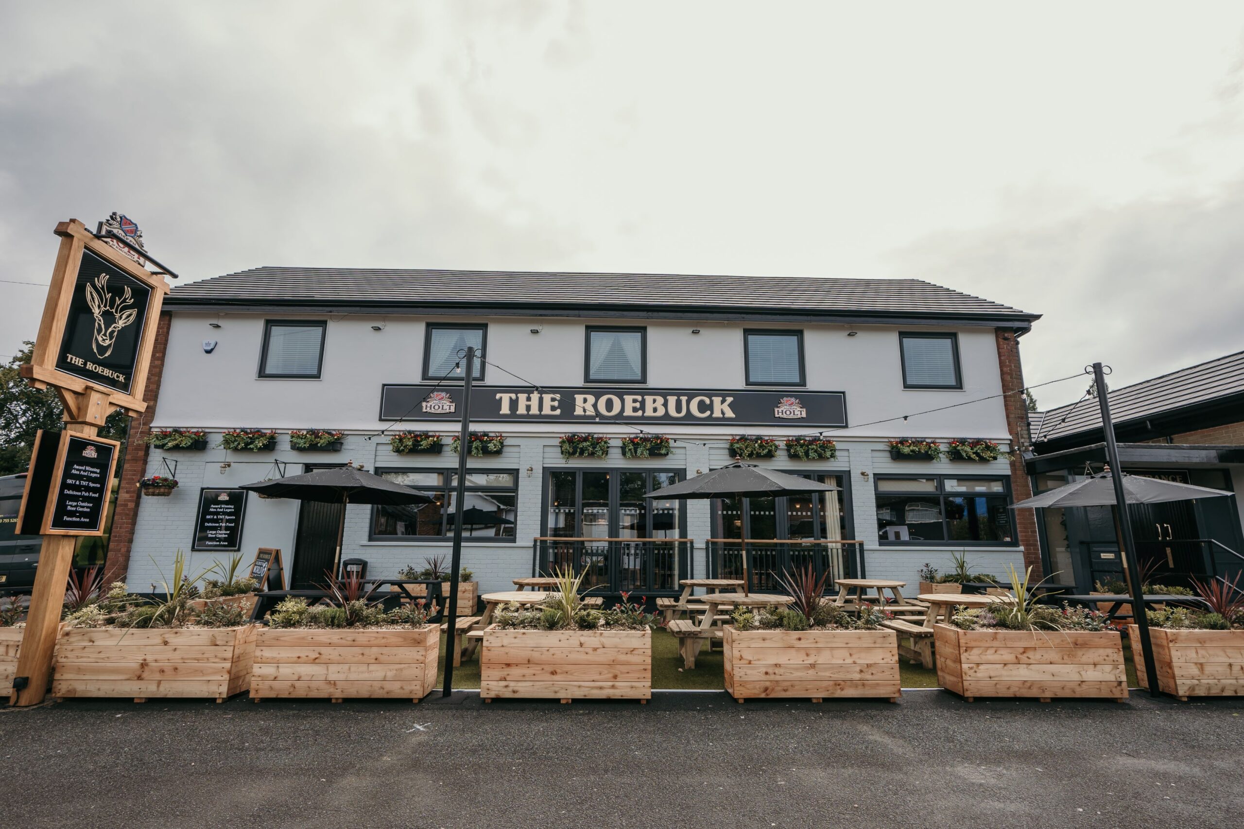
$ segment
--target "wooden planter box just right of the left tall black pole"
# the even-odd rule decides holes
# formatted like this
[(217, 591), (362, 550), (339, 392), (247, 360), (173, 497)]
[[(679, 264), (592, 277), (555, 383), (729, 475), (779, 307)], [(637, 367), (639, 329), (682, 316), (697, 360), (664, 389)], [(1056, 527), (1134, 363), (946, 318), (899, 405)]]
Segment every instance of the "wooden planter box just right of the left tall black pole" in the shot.
[(479, 696), (539, 700), (652, 698), (651, 630), (484, 631)]

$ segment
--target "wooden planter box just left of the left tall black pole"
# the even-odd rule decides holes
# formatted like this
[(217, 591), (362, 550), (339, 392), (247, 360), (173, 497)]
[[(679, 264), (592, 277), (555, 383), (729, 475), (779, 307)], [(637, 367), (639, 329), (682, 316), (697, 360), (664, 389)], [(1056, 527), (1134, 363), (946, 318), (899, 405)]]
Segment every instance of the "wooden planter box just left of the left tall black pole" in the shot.
[(250, 698), (413, 700), (437, 685), (440, 629), (261, 627)]

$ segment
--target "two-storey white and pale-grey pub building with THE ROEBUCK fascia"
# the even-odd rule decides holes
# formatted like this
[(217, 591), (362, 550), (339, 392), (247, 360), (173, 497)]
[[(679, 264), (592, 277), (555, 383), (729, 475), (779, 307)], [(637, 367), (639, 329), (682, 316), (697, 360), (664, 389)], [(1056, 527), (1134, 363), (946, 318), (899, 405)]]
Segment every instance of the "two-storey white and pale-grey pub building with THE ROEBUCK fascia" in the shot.
[[(1035, 520), (1009, 509), (1030, 494), (1018, 454), (931, 461), (889, 446), (1026, 446), (1016, 340), (1036, 319), (919, 280), (259, 268), (179, 285), (158, 322), (154, 405), (129, 436), (108, 575), (143, 590), (179, 549), (198, 573), (275, 548), (287, 586), (313, 586), (332, 569), (341, 509), (342, 559), (379, 578), (448, 560), (460, 515), (463, 566), (485, 592), (572, 563), (605, 595), (677, 595), (679, 579), (728, 575), (740, 539), (755, 541), (756, 589), (804, 561), (899, 579), (913, 595), (922, 565), (948, 569), (962, 551), (993, 574), (1040, 566)], [(459, 510), (452, 442), (466, 346), (484, 355), (470, 428), (491, 438), (469, 457)], [(943, 411), (916, 415), (928, 410)], [(174, 428), (205, 431), (207, 448), (146, 443)], [(223, 448), (238, 429), (275, 443)], [(291, 448), (300, 429), (341, 432), (340, 451)], [(401, 453), (389, 443), (401, 432), (443, 441)], [(607, 452), (564, 457), (571, 433), (607, 438)], [(832, 457), (790, 454), (796, 436), (832, 439)], [(623, 448), (657, 437), (668, 452)], [(776, 442), (753, 463), (841, 489), (643, 498), (730, 463), (738, 437)], [(435, 503), (300, 504), (238, 489), (347, 462)], [(139, 477), (170, 468), (172, 495), (139, 497)]]

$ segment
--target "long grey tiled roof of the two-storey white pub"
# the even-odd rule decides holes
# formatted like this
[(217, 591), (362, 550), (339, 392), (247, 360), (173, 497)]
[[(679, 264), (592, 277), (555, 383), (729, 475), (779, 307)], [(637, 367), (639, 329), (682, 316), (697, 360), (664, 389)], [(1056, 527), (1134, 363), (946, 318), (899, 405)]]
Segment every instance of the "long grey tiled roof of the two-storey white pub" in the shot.
[(255, 268), (178, 285), (165, 304), (611, 309), (769, 314), (979, 317), (1029, 325), (1040, 317), (918, 279), (816, 279), (481, 270)]

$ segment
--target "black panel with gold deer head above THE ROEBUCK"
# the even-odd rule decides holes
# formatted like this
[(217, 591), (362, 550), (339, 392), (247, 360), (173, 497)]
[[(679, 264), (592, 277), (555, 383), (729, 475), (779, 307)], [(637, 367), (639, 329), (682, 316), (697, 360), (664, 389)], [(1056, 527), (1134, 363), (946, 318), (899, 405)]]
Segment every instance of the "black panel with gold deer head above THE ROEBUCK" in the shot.
[(128, 395), (152, 294), (142, 281), (83, 250), (56, 370)]

